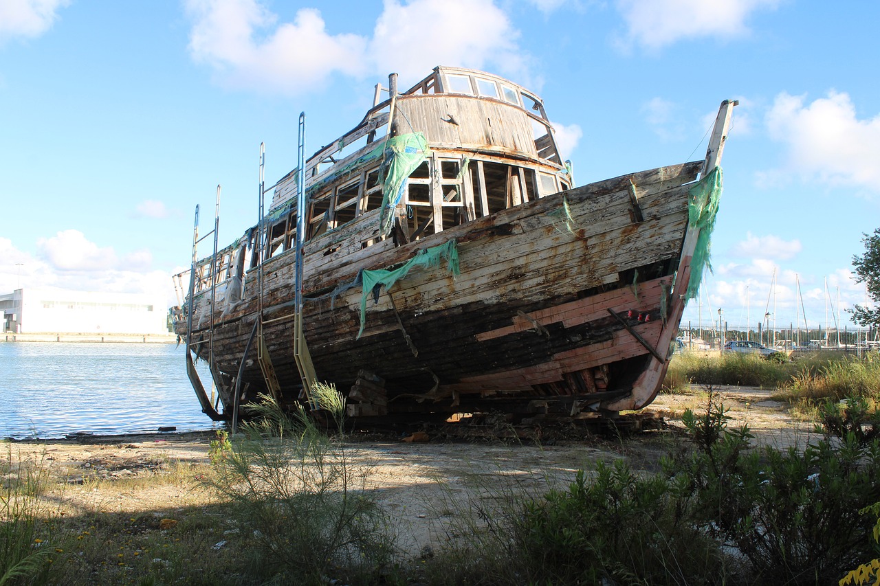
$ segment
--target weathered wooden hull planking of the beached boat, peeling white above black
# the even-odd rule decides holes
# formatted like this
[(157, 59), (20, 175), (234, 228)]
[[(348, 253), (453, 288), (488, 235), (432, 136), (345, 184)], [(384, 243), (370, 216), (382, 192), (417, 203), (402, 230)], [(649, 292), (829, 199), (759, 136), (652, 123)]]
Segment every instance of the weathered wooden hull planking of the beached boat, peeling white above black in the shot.
[[(648, 355), (607, 308), (633, 310), (627, 324), (656, 343), (663, 327), (660, 298), (671, 275), (642, 275), (633, 288), (621, 274), (662, 260), (677, 262), (687, 223), (686, 184), (699, 167), (676, 165), (608, 179), (399, 247), (390, 239), (363, 247), (375, 237), (364, 227), (376, 223), (375, 212), (312, 240), (305, 251), (305, 292), (317, 298), (306, 301), (304, 323), (319, 377), (347, 390), (357, 371), (366, 369), (387, 379), (392, 394), (531, 392), (533, 385), (553, 384), (567, 373)], [(634, 222), (630, 181), (642, 222)], [(363, 268), (390, 267), (447, 238), (458, 241), (461, 275), (444, 268), (414, 270), (391, 291), (396, 312), (387, 292), (378, 304), (370, 299), (366, 328), (356, 340), (360, 289), (334, 299), (327, 293)], [(283, 318), (292, 311), (292, 252), (269, 260), (263, 270), (265, 319)], [(254, 274), (247, 276), (245, 301), (216, 321), (214, 352), (228, 373), (238, 370), (253, 327)], [(201, 297), (195, 317), (206, 311), (209, 299)], [(649, 315), (649, 321), (636, 314)], [(195, 333), (196, 340), (206, 328)], [(297, 384), (290, 321), (270, 321), (265, 331), (282, 386)], [(255, 361), (246, 380), (261, 384)], [(405, 402), (392, 399), (389, 408), (404, 408)]]

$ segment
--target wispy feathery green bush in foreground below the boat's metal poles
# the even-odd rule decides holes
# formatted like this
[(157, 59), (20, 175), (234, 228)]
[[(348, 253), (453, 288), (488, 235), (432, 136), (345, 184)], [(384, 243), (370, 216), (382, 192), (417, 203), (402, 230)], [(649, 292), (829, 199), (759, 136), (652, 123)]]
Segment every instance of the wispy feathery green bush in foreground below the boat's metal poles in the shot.
[[(287, 414), (261, 399), (212, 480), (233, 503), (250, 573), (279, 583), (374, 583), (393, 541), (344, 436), (328, 436), (303, 407)], [(335, 388), (315, 385), (312, 399), (341, 429), (345, 403)]]

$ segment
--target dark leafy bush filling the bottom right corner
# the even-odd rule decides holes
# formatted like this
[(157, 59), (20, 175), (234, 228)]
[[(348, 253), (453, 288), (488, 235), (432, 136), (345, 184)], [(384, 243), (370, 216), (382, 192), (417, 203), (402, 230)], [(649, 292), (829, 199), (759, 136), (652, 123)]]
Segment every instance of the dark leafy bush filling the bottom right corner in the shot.
[(831, 583), (865, 559), (871, 524), (859, 510), (880, 497), (880, 443), (854, 433), (795, 447), (749, 446), (747, 427), (728, 429), (709, 393), (705, 414), (683, 418), (698, 450), (667, 459), (700, 526), (751, 562), (761, 583)]

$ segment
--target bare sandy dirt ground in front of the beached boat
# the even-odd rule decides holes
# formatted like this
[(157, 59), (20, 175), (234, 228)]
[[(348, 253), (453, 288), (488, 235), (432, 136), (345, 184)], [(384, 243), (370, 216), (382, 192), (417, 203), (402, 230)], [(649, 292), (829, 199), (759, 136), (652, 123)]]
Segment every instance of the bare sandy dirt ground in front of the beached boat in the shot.
[[(774, 447), (816, 439), (813, 424), (791, 416), (788, 404), (770, 392), (721, 387), (731, 426), (747, 423), (756, 443)], [(538, 444), (480, 441), (405, 443), (395, 438), (349, 443), (349, 455), (369, 473), (378, 501), (399, 521), (400, 544), (411, 553), (436, 545), (455, 532), (473, 508), (490, 508), (509, 487), (546, 491), (564, 486), (577, 470), (605, 459), (626, 458), (636, 469), (656, 470), (657, 461), (678, 441), (680, 414), (705, 408), (705, 394), (660, 395), (648, 407), (668, 428), (617, 438), (584, 434)], [(69, 514), (89, 511), (167, 514), (214, 497), (198, 481), (209, 473), (207, 433), (114, 436), (9, 443), (0, 458), (42, 460), (58, 479), (50, 497)], [(177, 474), (190, 468), (195, 474)], [(180, 481), (167, 481), (167, 478)], [(165, 477), (165, 480), (160, 480)], [(184, 480), (185, 479), (185, 480)]]

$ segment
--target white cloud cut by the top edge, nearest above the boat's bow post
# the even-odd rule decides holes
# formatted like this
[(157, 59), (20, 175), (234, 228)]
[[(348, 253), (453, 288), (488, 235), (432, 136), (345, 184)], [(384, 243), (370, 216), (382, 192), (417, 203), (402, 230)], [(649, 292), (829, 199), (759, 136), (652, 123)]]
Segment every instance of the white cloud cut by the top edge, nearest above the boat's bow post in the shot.
[(617, 0), (627, 24), (626, 40), (661, 48), (697, 37), (733, 38), (749, 32), (752, 12), (774, 8), (780, 0)]

